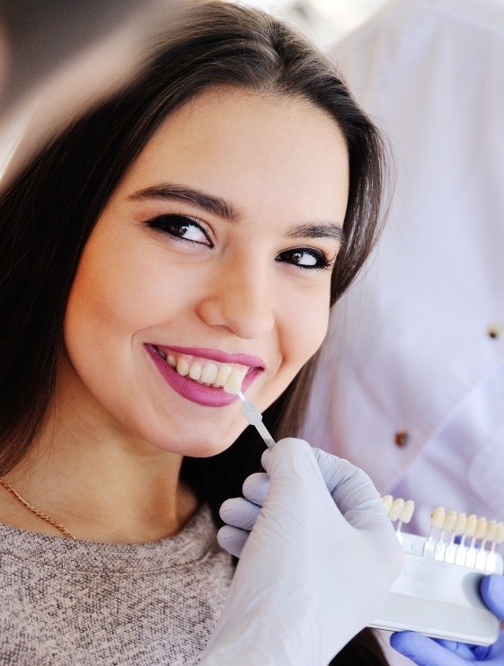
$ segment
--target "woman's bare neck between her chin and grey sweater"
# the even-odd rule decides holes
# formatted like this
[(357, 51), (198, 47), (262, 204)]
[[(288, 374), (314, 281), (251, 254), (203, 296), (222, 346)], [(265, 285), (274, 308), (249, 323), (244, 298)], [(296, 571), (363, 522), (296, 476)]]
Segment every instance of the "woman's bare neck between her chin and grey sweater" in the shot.
[[(31, 451), (5, 480), (78, 539), (143, 543), (176, 534), (198, 506), (179, 478), (182, 457), (128, 437), (72, 397), (58, 395)], [(1, 487), (0, 522), (61, 536)]]

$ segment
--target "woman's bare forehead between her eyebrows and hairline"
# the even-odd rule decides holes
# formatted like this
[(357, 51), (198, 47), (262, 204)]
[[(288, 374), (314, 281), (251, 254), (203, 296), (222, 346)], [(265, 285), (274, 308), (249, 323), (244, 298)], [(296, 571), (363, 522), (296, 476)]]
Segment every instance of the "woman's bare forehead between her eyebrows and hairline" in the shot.
[[(174, 111), (122, 183), (128, 192), (171, 182), (241, 209), (306, 206), (336, 215), (348, 195), (348, 155), (335, 120), (287, 96), (227, 88), (203, 93)], [(273, 198), (273, 199), (272, 199)], [(259, 212), (259, 211), (258, 211)]]

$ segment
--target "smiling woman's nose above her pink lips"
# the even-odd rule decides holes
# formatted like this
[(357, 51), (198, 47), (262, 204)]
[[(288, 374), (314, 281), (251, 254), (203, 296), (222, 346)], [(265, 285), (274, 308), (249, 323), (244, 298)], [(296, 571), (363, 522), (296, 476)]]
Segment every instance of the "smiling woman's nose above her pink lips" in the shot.
[(267, 271), (227, 263), (206, 285), (199, 316), (211, 326), (224, 326), (246, 340), (270, 333), (275, 325)]

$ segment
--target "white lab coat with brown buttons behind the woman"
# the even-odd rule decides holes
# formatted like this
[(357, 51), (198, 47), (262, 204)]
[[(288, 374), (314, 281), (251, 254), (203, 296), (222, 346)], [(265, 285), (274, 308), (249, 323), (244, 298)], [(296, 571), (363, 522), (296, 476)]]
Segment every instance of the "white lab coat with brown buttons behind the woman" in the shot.
[(397, 185), (302, 435), (415, 500), (419, 534), (438, 504), (504, 519), (504, 3), (397, 0), (333, 55)]

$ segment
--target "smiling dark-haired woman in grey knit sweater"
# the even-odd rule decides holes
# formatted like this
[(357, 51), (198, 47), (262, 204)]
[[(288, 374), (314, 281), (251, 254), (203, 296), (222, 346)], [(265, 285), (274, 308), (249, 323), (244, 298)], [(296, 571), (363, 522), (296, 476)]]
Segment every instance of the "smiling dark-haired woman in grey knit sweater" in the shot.
[(376, 237), (381, 141), (315, 49), (233, 4), (171, 34), (4, 192), (4, 662), (198, 661), (208, 511), (261, 456), (222, 386), (295, 432)]

